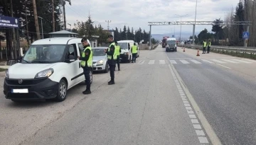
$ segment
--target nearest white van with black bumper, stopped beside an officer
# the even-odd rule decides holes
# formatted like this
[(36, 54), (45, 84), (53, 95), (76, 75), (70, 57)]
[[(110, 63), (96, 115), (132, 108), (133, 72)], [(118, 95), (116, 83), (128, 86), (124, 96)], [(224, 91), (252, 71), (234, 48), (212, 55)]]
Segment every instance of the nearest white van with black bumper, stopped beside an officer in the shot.
[[(84, 49), (81, 39), (54, 37), (33, 42), (18, 63), (6, 71), (6, 98), (14, 102), (51, 98), (65, 100), (68, 89), (85, 81), (78, 60)], [(90, 82), (92, 83), (92, 70)]]

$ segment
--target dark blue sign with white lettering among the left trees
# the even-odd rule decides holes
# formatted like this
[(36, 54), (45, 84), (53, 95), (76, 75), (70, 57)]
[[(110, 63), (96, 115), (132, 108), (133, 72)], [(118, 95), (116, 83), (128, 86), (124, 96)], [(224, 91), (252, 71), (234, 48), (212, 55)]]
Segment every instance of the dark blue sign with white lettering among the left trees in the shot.
[(18, 28), (18, 18), (0, 16), (0, 28)]

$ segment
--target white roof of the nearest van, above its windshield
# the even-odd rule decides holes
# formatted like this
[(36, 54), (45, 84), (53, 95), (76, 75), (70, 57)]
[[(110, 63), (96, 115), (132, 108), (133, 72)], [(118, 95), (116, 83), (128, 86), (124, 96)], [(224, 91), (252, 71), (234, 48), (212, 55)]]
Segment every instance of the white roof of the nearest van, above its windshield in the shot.
[(79, 40), (81, 42), (82, 38), (78, 37), (51, 37), (41, 40), (36, 40), (32, 43), (32, 45), (66, 45), (68, 40)]

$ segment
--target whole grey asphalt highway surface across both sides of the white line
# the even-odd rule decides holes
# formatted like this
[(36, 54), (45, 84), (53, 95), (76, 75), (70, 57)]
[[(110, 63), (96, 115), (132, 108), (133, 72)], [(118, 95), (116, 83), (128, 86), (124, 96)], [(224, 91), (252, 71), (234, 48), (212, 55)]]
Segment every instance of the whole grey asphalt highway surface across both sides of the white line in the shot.
[(94, 74), (92, 94), (80, 84), (61, 103), (2, 93), (1, 144), (256, 144), (256, 61), (164, 50), (121, 64), (114, 86)]

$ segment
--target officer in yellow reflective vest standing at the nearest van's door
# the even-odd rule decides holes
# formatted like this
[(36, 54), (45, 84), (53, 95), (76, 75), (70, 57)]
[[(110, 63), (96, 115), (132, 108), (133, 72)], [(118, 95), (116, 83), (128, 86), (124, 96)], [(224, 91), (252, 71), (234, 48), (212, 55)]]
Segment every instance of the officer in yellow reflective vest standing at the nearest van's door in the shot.
[(82, 45), (84, 50), (82, 50), (81, 57), (78, 57), (81, 60), (81, 66), (83, 69), (83, 73), (85, 74), (85, 83), (86, 83), (86, 90), (83, 91), (83, 94), (90, 94), (90, 74), (92, 74), (92, 47), (90, 47), (89, 42), (86, 37), (83, 37)]

